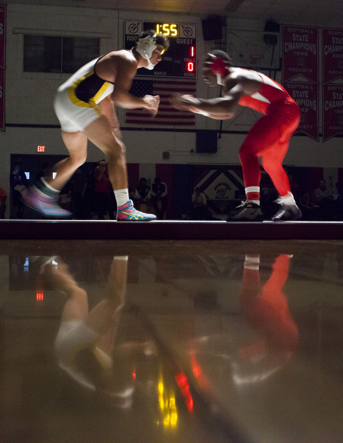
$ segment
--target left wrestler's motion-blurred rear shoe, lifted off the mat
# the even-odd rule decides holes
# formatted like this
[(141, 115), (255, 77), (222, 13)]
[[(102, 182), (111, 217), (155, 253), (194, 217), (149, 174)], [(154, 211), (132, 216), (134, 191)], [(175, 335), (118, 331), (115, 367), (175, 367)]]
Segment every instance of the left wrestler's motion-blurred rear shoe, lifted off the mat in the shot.
[(66, 218), (72, 215), (71, 212), (58, 205), (58, 192), (50, 190), (41, 180), (23, 190), (21, 196), (26, 206), (46, 217)]

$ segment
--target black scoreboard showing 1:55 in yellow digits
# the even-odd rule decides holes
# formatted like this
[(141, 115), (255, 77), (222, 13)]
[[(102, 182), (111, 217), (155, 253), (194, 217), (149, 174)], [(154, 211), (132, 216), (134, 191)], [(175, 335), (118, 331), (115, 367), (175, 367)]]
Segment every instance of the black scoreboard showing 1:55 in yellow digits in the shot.
[(197, 78), (196, 38), (197, 27), (187, 23), (161, 23), (125, 21), (125, 49), (131, 49), (143, 31), (154, 29), (156, 34), (166, 35), (170, 47), (162, 54), (162, 60), (154, 70), (140, 68), (137, 76)]

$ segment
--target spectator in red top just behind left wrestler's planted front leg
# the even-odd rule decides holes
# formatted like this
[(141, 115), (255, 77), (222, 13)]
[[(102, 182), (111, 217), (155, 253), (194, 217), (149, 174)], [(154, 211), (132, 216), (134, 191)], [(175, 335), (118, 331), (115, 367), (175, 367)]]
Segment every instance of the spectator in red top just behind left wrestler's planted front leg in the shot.
[(94, 169), (94, 183), (94, 209), (98, 219), (104, 220), (108, 214), (109, 218), (113, 220), (114, 214), (110, 205), (110, 195), (113, 193), (113, 189), (105, 160), (100, 160)]

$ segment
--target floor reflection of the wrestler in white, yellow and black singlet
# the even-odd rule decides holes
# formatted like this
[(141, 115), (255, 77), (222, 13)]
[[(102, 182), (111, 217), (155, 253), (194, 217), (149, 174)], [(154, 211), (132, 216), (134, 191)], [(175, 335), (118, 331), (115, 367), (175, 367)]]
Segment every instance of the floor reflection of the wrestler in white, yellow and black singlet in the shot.
[(80, 385), (113, 400), (128, 400), (133, 388), (126, 381), (126, 389), (118, 389), (118, 383), (122, 382), (118, 380), (119, 374), (114, 370), (116, 362), (112, 359), (126, 294), (127, 257), (113, 258), (105, 290), (107, 298), (91, 311), (86, 291), (78, 286), (61, 258), (55, 260), (58, 265), (46, 265), (43, 278), (69, 297), (54, 346), (58, 365)]

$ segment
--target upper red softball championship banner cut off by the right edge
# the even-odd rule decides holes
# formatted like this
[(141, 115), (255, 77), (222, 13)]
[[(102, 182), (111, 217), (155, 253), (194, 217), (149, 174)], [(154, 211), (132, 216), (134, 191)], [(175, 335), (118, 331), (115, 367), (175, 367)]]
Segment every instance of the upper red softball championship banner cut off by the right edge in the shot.
[(322, 29), (323, 85), (343, 80), (343, 29)]

